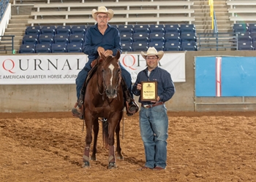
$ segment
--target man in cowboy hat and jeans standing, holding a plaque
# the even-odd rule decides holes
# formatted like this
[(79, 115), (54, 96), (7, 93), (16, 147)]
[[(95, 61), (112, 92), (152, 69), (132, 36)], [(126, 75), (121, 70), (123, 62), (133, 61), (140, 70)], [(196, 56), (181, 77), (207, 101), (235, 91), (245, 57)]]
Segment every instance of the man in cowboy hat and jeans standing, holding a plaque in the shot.
[(165, 170), (168, 137), (165, 102), (173, 97), (175, 87), (170, 74), (158, 66), (163, 51), (149, 47), (141, 55), (147, 67), (140, 71), (132, 87), (132, 92), (140, 96), (140, 135), (146, 155), (146, 164), (138, 170)]

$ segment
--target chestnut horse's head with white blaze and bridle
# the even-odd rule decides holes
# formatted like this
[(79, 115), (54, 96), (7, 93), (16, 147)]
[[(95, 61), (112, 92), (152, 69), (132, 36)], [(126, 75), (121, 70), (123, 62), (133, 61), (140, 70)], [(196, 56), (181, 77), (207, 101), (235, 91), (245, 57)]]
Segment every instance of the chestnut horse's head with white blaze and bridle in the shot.
[(121, 68), (118, 64), (119, 58), (120, 52), (118, 51), (115, 57), (109, 55), (102, 63), (103, 85), (108, 98), (116, 98), (118, 93), (118, 86), (121, 82)]

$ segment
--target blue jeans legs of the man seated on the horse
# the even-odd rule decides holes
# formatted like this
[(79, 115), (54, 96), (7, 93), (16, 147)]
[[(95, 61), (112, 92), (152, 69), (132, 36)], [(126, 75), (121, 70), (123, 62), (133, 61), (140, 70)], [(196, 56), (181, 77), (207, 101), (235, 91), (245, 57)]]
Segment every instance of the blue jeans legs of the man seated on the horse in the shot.
[[(124, 78), (124, 82), (127, 84), (127, 88), (129, 90), (129, 93), (131, 95), (131, 97), (133, 98), (133, 94), (132, 94), (132, 77), (131, 74), (129, 74), (129, 72), (120, 65), (121, 68), (121, 76)], [(87, 74), (89, 72), (89, 68), (88, 65), (84, 66), (84, 68), (78, 73), (78, 77), (75, 79), (75, 84), (76, 86), (76, 90), (77, 90), (77, 97), (79, 98), (80, 95), (80, 90), (83, 87), (83, 82), (85, 82)]]

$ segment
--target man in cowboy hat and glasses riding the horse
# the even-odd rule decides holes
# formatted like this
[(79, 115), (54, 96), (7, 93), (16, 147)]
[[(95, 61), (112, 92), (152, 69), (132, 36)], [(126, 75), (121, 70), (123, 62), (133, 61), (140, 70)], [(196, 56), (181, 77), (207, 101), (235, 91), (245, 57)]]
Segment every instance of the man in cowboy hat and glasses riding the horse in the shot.
[[(93, 25), (86, 32), (86, 39), (84, 44), (84, 53), (88, 55), (89, 61), (86, 63), (86, 66), (79, 72), (75, 83), (77, 84), (77, 97), (78, 102), (75, 103), (75, 107), (72, 108), (72, 114), (74, 116), (78, 116), (80, 119), (83, 119), (83, 95), (85, 94), (85, 87), (83, 87), (83, 83), (86, 80), (86, 76), (91, 70), (91, 62), (96, 60), (100, 54), (105, 55), (116, 55), (116, 52), (121, 50), (121, 39), (120, 34), (117, 28), (108, 24), (113, 17), (113, 10), (107, 9), (106, 7), (99, 7), (97, 9), (93, 9), (91, 12), (94, 20), (97, 21), (96, 25)], [(127, 106), (127, 115), (131, 116), (138, 111), (138, 105), (133, 100), (132, 95), (132, 77), (129, 72), (121, 66), (121, 75), (124, 79), (123, 91), (124, 98), (126, 100)], [(125, 85), (126, 83), (126, 85)], [(127, 86), (127, 87), (125, 87)], [(78, 108), (77, 108), (78, 106)]]

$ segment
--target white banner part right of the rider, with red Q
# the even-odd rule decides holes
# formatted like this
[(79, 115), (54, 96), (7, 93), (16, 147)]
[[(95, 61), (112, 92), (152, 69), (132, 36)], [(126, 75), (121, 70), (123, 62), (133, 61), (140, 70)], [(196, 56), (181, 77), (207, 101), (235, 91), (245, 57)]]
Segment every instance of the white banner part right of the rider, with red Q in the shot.
[[(146, 60), (140, 54), (122, 54), (120, 63), (131, 74), (132, 83), (135, 83), (138, 73), (146, 68)], [(173, 82), (186, 82), (184, 52), (165, 53), (158, 66), (170, 73)]]

